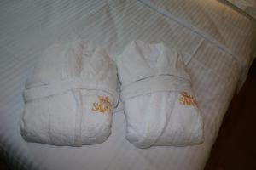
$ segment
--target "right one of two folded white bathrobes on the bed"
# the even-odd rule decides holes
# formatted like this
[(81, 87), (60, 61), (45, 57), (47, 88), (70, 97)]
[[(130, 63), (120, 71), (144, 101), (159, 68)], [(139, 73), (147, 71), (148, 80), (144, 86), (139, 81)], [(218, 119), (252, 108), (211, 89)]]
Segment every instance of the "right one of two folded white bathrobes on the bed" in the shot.
[(200, 144), (203, 123), (183, 59), (163, 43), (131, 42), (117, 58), (126, 138), (139, 148)]

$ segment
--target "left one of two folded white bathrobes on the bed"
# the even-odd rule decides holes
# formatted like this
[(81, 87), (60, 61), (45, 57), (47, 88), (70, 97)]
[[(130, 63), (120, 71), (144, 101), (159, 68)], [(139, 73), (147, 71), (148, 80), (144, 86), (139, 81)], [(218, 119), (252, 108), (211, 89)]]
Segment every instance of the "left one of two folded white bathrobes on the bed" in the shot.
[(116, 66), (104, 50), (82, 40), (56, 42), (26, 82), (20, 133), (44, 144), (100, 144), (111, 133), (116, 88)]

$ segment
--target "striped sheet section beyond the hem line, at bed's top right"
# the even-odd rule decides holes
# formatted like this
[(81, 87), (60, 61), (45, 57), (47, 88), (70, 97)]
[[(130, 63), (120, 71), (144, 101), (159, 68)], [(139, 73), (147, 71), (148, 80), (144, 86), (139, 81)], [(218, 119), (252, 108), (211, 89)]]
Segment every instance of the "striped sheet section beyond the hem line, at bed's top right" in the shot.
[(198, 32), (238, 59), (241, 77), (238, 89), (247, 77), (256, 55), (256, 22), (239, 14), (230, 5), (212, 0), (140, 0), (167, 18)]

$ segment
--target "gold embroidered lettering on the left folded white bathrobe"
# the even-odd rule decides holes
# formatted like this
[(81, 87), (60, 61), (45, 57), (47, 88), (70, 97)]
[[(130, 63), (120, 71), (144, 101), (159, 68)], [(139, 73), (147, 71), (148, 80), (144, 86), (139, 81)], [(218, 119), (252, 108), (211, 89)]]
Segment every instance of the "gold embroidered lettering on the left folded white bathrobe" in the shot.
[(112, 113), (113, 112), (113, 105), (110, 102), (108, 96), (99, 96), (99, 102), (94, 102), (92, 104), (91, 111), (97, 111), (102, 113)]

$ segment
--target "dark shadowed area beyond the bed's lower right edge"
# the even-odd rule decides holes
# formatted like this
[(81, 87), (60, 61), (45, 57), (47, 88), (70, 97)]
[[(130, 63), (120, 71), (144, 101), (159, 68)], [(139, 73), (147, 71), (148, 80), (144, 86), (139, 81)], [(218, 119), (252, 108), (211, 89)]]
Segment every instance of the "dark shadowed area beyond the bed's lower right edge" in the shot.
[(256, 169), (256, 60), (230, 103), (205, 170)]

